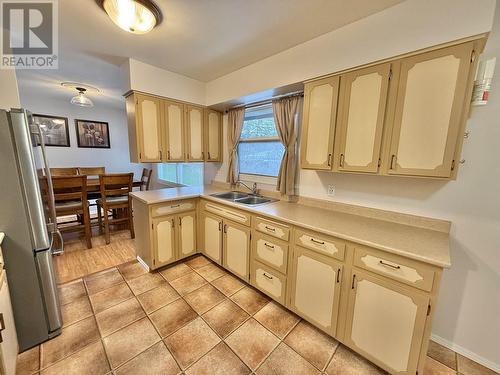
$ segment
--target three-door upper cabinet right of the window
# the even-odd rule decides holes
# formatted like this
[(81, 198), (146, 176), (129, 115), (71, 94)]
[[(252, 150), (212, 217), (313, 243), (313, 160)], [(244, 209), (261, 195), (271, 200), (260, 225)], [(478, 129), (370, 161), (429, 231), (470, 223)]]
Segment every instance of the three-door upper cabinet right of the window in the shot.
[(483, 45), (478, 39), (307, 82), (301, 167), (455, 177)]

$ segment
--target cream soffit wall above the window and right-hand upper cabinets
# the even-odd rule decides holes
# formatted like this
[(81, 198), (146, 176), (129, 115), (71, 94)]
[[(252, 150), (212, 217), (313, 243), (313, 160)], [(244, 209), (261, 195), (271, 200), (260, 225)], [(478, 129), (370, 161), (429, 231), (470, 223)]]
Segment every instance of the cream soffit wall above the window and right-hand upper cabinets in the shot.
[(487, 32), (495, 0), (407, 0), (207, 83), (207, 105)]

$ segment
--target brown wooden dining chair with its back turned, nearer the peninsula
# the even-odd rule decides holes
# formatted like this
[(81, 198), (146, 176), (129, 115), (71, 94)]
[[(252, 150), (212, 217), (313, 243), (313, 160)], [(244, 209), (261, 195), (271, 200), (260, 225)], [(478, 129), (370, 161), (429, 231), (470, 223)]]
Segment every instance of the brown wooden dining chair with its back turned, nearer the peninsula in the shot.
[[(132, 198), (129, 195), (132, 191), (133, 178), (133, 173), (99, 175), (101, 198), (97, 200), (97, 214), (99, 219), (99, 230), (101, 232), (104, 219), (106, 244), (110, 242), (110, 224), (127, 223), (130, 229), (130, 236), (135, 238), (134, 223), (132, 220)], [(119, 215), (119, 211), (124, 211), (125, 215)], [(109, 213), (112, 213), (111, 217)]]

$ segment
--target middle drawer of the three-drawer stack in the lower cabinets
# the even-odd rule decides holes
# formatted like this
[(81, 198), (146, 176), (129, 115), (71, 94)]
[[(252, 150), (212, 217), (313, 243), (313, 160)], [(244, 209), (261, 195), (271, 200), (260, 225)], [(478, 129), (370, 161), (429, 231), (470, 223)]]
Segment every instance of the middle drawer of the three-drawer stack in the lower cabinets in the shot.
[(254, 233), (253, 258), (286, 275), (288, 243), (259, 232)]

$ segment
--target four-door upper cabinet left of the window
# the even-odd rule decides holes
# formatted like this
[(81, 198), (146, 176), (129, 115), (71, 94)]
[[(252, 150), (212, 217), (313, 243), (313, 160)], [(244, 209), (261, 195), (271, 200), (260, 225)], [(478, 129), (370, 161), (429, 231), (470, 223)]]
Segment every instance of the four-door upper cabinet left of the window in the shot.
[(222, 113), (137, 92), (126, 105), (132, 162), (222, 161)]

